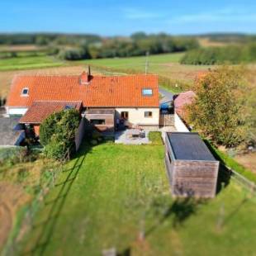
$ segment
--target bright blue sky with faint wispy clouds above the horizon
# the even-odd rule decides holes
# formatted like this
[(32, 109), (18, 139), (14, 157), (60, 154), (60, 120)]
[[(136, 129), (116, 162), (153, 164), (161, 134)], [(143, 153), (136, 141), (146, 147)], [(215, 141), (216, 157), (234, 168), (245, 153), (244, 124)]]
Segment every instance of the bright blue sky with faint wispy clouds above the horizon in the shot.
[(256, 33), (251, 0), (0, 0), (0, 32)]

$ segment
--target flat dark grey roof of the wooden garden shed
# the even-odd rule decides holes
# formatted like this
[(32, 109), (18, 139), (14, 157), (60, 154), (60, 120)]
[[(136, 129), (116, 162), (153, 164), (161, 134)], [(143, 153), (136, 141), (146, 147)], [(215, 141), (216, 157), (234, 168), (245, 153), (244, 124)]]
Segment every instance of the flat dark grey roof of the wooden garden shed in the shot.
[(168, 132), (167, 135), (175, 159), (216, 161), (197, 132)]

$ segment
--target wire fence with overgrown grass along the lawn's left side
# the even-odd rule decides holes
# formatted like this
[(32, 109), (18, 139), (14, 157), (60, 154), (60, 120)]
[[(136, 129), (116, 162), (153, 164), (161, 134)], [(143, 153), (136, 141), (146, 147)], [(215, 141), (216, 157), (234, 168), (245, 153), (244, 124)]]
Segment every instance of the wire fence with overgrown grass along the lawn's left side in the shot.
[[(40, 186), (40, 189), (36, 193), (36, 197), (26, 206), (26, 210), (19, 221), (19, 225), (14, 227), (14, 231), (7, 241), (6, 247), (3, 249), (3, 255), (17, 255), (20, 252), (20, 239), (21, 232), (26, 230), (26, 233), (33, 228), (33, 219), (36, 216), (36, 212), (40, 208), (41, 202), (45, 200), (47, 192), (50, 191), (50, 188), (55, 187), (56, 179), (59, 176), (59, 173), (64, 171), (64, 164), (70, 160), (71, 149), (68, 149), (63, 157), (59, 160), (58, 164), (52, 168), (51, 175), (45, 181), (43, 185)], [(17, 230), (15, 232), (15, 230)]]

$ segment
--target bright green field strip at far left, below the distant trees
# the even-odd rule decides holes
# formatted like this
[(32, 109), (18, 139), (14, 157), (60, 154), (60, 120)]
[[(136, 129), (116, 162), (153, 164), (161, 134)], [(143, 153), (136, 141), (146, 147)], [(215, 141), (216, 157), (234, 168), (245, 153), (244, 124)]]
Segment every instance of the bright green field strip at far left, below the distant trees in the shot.
[(50, 56), (17, 57), (0, 59), (0, 71), (19, 69), (40, 69), (64, 65), (59, 59)]

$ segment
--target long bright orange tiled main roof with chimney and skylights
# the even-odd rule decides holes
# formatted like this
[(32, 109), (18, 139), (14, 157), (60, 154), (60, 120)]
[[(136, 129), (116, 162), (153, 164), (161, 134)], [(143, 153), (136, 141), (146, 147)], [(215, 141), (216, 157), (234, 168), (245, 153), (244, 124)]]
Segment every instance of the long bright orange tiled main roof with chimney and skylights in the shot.
[[(17, 76), (7, 107), (30, 107), (35, 101), (82, 101), (84, 107), (159, 107), (157, 75), (90, 76), (89, 83), (83, 83), (84, 74)], [(28, 96), (21, 95), (22, 88), (29, 89)], [(143, 96), (143, 88), (152, 88), (153, 96)]]

